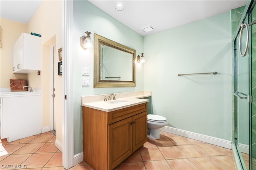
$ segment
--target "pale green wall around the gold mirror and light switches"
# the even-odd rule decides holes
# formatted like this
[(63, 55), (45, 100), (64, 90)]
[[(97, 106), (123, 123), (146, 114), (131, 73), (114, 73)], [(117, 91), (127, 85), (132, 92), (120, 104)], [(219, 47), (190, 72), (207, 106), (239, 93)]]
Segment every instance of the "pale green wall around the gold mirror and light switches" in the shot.
[[(73, 82), (74, 82), (74, 154), (82, 152), (82, 107), (81, 96), (134, 92), (143, 90), (143, 64), (136, 65), (136, 87), (131, 88), (93, 88), (94, 54), (93, 49), (82, 49), (80, 37), (86, 31), (126, 45), (143, 53), (143, 37), (126, 25), (112, 18), (86, 0), (74, 0), (73, 19)], [(82, 86), (82, 67), (90, 68), (90, 86)], [(86, 77), (86, 76), (84, 76)]]

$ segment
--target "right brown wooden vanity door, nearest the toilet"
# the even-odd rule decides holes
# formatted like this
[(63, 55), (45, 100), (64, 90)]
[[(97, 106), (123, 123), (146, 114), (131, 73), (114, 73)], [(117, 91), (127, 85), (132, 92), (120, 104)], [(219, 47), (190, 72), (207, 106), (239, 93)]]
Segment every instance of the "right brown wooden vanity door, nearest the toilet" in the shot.
[(147, 111), (134, 115), (132, 123), (132, 152), (135, 152), (148, 140)]

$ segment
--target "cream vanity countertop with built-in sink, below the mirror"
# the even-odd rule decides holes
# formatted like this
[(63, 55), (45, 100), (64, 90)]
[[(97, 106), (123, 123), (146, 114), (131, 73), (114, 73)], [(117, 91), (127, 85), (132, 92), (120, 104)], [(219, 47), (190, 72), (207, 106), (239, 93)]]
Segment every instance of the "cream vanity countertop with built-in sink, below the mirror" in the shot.
[[(112, 104), (112, 102), (127, 102), (127, 103)], [(123, 109), (126, 107), (135, 106), (135, 105), (143, 104), (147, 102), (149, 102), (148, 99), (122, 98), (117, 100), (109, 100), (107, 102), (104, 102), (104, 101), (91, 102), (91, 103), (82, 104), (82, 106), (110, 112), (110, 111), (115, 111), (118, 109)]]

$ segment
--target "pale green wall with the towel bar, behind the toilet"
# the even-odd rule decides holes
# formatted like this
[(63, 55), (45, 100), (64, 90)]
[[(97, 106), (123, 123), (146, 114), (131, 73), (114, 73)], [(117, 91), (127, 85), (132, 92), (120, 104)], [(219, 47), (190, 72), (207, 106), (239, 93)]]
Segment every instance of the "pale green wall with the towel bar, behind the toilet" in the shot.
[(170, 127), (231, 141), (231, 42), (230, 12), (144, 37), (150, 112)]

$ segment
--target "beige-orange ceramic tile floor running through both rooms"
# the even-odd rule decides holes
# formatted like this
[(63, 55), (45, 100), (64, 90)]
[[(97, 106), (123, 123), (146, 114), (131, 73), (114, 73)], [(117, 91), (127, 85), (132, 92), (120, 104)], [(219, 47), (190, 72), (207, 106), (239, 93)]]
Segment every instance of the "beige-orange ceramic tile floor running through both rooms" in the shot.
[[(232, 150), (160, 131), (160, 139), (148, 141), (116, 170), (235, 170)], [(63, 170), (62, 152), (51, 132), (2, 146), (0, 169)], [(9, 165), (9, 167), (7, 167)], [(19, 165), (18, 168), (16, 168)], [(15, 167), (16, 166), (16, 167)], [(71, 170), (92, 170), (85, 162)]]

